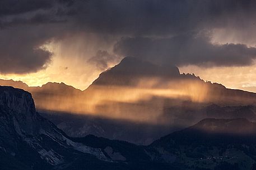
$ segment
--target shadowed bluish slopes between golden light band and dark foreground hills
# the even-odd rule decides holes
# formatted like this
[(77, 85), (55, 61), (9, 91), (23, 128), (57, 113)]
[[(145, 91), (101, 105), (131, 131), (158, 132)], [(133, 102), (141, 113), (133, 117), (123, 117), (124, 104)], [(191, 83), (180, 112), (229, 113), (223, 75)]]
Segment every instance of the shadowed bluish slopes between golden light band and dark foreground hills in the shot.
[(256, 120), (255, 106), (218, 106), (209, 105), (196, 108), (166, 108), (163, 118), (170, 120), (169, 125), (136, 123), (90, 115), (77, 115), (59, 112), (41, 112), (60, 129), (72, 137), (94, 134), (98, 137), (126, 140), (137, 144), (149, 144), (170, 132), (196, 124), (205, 118), (232, 119), (246, 118)]

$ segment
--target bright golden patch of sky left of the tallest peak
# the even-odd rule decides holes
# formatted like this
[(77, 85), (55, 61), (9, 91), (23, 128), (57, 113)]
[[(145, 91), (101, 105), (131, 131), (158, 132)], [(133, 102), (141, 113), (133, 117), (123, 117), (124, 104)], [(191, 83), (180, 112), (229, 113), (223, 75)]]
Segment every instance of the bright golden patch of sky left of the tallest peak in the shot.
[[(78, 38), (74, 42), (76, 43), (69, 44), (68, 47), (66, 47), (67, 42), (65, 41), (53, 41), (44, 45), (47, 50), (53, 52), (52, 61), (45, 70), (30, 74), (0, 74), (0, 79), (23, 81), (29, 86), (41, 86), (47, 82), (64, 82), (84, 90), (104, 70), (99, 70), (87, 62), (87, 59), (90, 59), (95, 52), (91, 50), (91, 46), (88, 45), (88, 49), (85, 49), (85, 42), (80, 43)], [(108, 63), (109, 67), (116, 64), (118, 61)]]

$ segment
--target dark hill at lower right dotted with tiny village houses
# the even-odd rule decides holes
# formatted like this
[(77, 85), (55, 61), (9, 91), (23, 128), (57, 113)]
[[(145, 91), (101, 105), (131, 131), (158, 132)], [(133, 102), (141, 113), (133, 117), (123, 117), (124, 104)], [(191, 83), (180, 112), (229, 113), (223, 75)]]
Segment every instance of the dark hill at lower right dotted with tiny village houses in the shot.
[(188, 169), (253, 169), (256, 162), (256, 123), (244, 118), (204, 119), (192, 127), (153, 142), (152, 158)]

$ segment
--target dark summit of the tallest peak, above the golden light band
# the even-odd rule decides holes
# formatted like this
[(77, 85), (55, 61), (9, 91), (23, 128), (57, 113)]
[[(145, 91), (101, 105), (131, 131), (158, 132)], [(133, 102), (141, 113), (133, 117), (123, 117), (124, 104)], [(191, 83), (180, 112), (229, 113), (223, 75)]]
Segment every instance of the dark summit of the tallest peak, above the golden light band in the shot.
[(118, 65), (102, 72), (91, 86), (134, 86), (139, 79), (175, 78), (179, 75), (180, 72), (176, 66), (159, 66), (135, 57), (125, 57)]

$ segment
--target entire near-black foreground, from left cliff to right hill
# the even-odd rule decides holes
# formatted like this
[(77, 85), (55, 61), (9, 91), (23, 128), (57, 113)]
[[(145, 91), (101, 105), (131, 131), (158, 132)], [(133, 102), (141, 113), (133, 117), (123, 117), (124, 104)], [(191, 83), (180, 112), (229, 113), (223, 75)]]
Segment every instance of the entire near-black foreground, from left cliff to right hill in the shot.
[(0, 86), (1, 169), (253, 169), (256, 123), (203, 119), (150, 145), (68, 137), (40, 116), (31, 94)]

